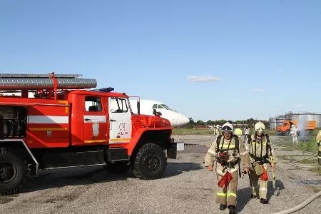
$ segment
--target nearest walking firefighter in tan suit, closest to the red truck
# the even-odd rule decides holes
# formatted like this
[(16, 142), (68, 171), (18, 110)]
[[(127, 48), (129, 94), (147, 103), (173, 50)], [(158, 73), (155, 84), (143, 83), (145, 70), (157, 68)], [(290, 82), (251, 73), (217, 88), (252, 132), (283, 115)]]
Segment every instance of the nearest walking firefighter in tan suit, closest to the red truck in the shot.
[(216, 162), (216, 175), (218, 178), (218, 190), (216, 202), (220, 204), (220, 210), (229, 209), (230, 213), (236, 213), (236, 191), (238, 175), (240, 173), (240, 161), (243, 163), (243, 171), (248, 173), (250, 158), (242, 141), (233, 135), (233, 126), (225, 123), (222, 126), (222, 134), (208, 149), (205, 156), (205, 167), (213, 171)]

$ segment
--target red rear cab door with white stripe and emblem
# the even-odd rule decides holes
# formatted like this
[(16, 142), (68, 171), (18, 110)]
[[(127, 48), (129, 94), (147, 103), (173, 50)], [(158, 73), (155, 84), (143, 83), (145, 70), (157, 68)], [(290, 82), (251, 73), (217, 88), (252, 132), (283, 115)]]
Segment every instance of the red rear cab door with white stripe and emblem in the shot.
[(103, 110), (99, 96), (85, 97), (85, 110), (83, 113), (84, 143), (106, 143), (107, 123), (106, 113)]

